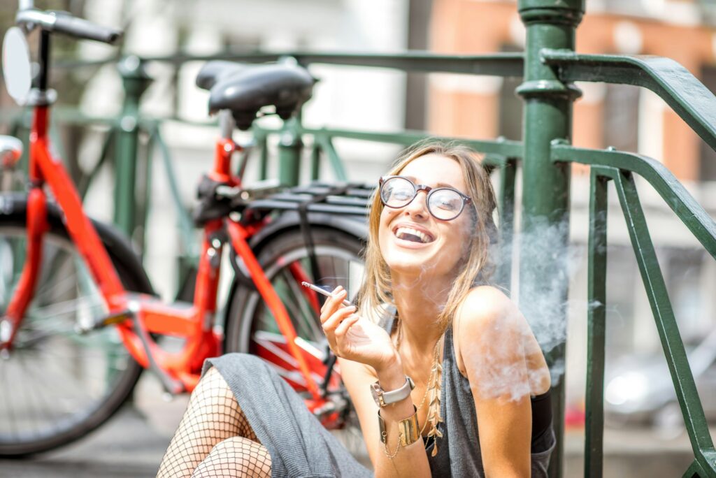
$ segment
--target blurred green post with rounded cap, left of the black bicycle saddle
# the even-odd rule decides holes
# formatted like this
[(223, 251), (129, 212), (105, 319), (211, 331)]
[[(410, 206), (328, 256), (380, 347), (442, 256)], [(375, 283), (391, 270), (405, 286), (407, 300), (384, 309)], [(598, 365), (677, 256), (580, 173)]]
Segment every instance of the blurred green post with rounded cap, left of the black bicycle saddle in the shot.
[(130, 238), (137, 226), (135, 182), (137, 147), (139, 146), (139, 102), (150, 84), (140, 59), (126, 57), (117, 69), (122, 75), (125, 102), (122, 105), (119, 130), (115, 143), (115, 224)]

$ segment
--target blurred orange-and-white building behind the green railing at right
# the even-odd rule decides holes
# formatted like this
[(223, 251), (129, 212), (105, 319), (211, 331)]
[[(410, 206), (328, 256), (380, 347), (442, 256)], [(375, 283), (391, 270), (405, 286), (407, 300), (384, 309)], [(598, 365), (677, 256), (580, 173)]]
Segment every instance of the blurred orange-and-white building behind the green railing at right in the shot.
[[(716, 34), (712, 4), (678, 0), (589, 0), (577, 28), (576, 51), (669, 57), (716, 90)], [(441, 53), (521, 51), (525, 29), (516, 1), (433, 0), (430, 45)], [(430, 75), (426, 122), (441, 135), (521, 139), (519, 79)], [(616, 147), (666, 165), (716, 216), (716, 154), (656, 94), (625, 85), (578, 83), (574, 106), (579, 147)], [(589, 182), (575, 167), (571, 238), (576, 250), (570, 292), (567, 384), (579, 406), (586, 366), (586, 234)], [(716, 326), (716, 263), (648, 185), (641, 185), (652, 240), (687, 348)], [(608, 370), (619, 356), (657, 353), (659, 338), (629, 235), (610, 192), (607, 276)], [(662, 359), (661, 359), (662, 360)]]

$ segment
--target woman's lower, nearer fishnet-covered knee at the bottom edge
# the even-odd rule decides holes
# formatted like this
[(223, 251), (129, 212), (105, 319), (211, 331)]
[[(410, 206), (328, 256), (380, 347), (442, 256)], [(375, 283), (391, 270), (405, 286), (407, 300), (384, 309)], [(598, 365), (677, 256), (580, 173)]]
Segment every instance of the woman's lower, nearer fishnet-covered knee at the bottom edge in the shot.
[(191, 478), (271, 478), (271, 455), (262, 444), (243, 436), (219, 442)]

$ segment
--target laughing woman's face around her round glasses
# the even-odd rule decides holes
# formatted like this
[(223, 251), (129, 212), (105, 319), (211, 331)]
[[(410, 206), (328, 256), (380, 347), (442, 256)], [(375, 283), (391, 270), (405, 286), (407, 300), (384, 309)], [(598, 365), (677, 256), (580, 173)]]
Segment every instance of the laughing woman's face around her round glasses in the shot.
[[(436, 154), (421, 156), (399, 173), (416, 185), (453, 187), (467, 195), (463, 171), (457, 161)], [(378, 240), (391, 275), (431, 274), (450, 277), (470, 244), (472, 218), (469, 204), (453, 220), (439, 220), (427, 210), (427, 193), (420, 191), (403, 208), (384, 207)], [(416, 235), (415, 231), (421, 234)]]

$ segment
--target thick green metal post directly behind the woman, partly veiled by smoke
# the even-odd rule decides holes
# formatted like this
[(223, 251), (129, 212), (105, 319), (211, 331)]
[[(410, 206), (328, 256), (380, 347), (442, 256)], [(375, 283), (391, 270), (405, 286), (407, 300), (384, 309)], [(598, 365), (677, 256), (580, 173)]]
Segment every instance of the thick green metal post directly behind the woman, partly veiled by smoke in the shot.
[[(550, 160), (552, 140), (571, 137), (572, 103), (579, 89), (561, 82), (551, 67), (541, 62), (542, 49), (574, 51), (576, 26), (584, 14), (584, 0), (519, 0), (526, 26), (524, 82), (518, 87), (524, 107), (522, 233), (538, 237), (520, 241), (520, 305), (531, 323), (550, 315), (551, 336), (566, 338), (567, 274), (564, 257), (569, 241), (569, 165)], [(544, 228), (543, 230), (541, 230)], [(544, 241), (536, 253), (533, 239)], [(543, 278), (550, 278), (544, 281)], [(534, 301), (551, 298), (553, 303)], [(540, 308), (548, 310), (539, 310)], [(553, 371), (553, 424), (557, 446), (550, 476), (563, 474), (564, 354), (563, 341), (549, 344), (548, 364)]]

